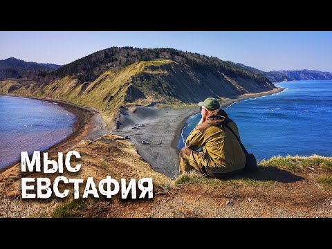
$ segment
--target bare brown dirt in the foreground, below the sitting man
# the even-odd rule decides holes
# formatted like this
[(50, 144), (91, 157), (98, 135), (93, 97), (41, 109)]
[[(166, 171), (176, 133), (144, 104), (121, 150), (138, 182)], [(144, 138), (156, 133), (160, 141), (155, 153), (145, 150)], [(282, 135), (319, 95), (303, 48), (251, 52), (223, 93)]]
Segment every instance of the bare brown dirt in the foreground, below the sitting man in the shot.
[[(271, 174), (273, 172), (275, 169), (270, 171)], [(266, 169), (259, 174), (266, 174)], [(277, 172), (278, 177), (285, 174), (287, 178), (281, 181), (271, 181), (268, 176), (264, 181), (269, 179), (269, 182), (264, 185), (241, 185), (237, 178), (225, 180), (222, 187), (214, 187), (204, 181), (184, 183), (159, 192), (151, 201), (100, 201), (84, 208), (78, 216), (332, 217), (332, 192), (317, 184), (317, 178), (303, 172)]]

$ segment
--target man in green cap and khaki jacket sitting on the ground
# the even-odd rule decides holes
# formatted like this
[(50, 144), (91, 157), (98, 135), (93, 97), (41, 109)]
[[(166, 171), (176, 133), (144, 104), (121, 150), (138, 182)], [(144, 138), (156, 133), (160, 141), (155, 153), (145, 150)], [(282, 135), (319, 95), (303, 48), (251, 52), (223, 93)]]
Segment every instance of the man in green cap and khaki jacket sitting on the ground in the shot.
[[(246, 154), (234, 136), (236, 133), (240, 137), (237, 124), (220, 109), (219, 101), (214, 98), (199, 102), (199, 106), (202, 118), (179, 154), (180, 174), (196, 169), (208, 176), (223, 178), (243, 172)], [(196, 151), (199, 148), (201, 152)]]

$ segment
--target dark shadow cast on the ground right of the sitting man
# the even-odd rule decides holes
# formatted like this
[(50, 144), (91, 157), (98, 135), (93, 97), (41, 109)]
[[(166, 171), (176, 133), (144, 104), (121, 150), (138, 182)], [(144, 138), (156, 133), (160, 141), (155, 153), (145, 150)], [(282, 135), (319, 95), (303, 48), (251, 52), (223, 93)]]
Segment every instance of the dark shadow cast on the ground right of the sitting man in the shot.
[(297, 176), (286, 170), (271, 166), (259, 167), (257, 172), (245, 173), (237, 178), (252, 179), (256, 181), (277, 181), (280, 183), (295, 183), (304, 180), (302, 176)]

